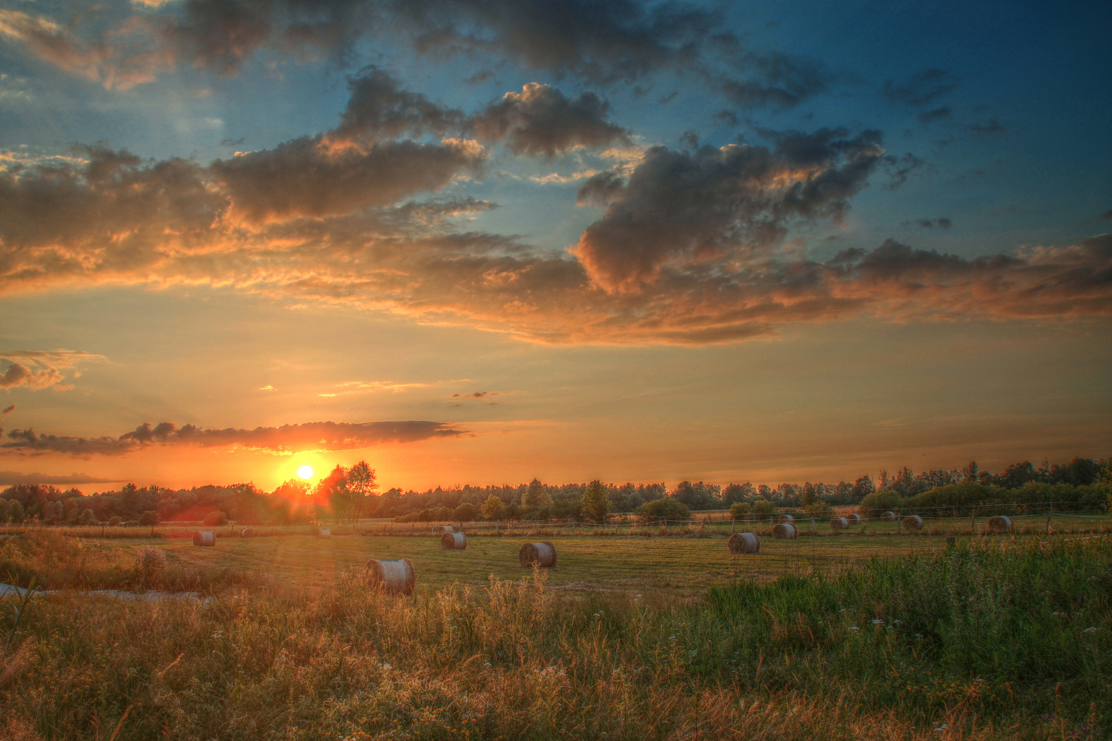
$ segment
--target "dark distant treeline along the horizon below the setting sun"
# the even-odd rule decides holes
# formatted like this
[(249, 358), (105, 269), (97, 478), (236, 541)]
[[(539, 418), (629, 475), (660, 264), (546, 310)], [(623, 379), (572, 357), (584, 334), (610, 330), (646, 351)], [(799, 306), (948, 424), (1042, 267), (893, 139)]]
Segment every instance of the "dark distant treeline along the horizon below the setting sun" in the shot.
[[(598, 501), (603, 497), (599, 488), (605, 492), (605, 502)], [(290, 480), (269, 493), (254, 483), (178, 490), (129, 483), (117, 491), (87, 497), (77, 489), (61, 491), (49, 485), (16, 484), (0, 492), (0, 522), (155, 524), (166, 520), (201, 520), (214, 513), (245, 524), (287, 524), (326, 518), (351, 521), (368, 517), (401, 522), (597, 519), (606, 510), (676, 517), (684, 511), (724, 509), (732, 504), (741, 505), (734, 508), (738, 511), (773, 508), (821, 511), (838, 504), (861, 504), (877, 511), (945, 507), (963, 514), (976, 504), (1009, 502), (1054, 501), (1093, 508), (1109, 502), (1112, 458), (1074, 458), (1069, 463), (1044, 463), (1039, 468), (1023, 461), (1000, 473), (982, 471), (976, 463), (960, 470), (921, 473), (904, 467), (894, 475), (881, 471), (877, 482), (862, 475), (852, 483), (782, 483), (775, 488), (749, 482), (721, 487), (681, 481), (668, 490), (664, 483), (552, 485), (534, 479), (527, 484), (503, 487), (390, 489), (383, 493), (377, 489), (375, 470), (364, 461), (348, 469), (337, 465), (315, 487)]]

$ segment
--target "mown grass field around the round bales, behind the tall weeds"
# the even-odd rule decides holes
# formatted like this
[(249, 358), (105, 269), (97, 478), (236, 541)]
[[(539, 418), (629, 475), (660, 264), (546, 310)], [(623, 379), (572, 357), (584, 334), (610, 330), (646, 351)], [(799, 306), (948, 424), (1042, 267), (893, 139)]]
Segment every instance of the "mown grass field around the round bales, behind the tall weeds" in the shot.
[[(363, 568), (373, 558), (411, 559), (419, 590), (437, 590), (454, 582), (477, 587), (486, 584), (490, 577), (519, 579), (522, 569), (517, 552), (522, 544), (550, 539), (559, 554), (558, 567), (548, 573), (550, 588), (636, 592), (655, 599), (661, 594), (701, 594), (711, 587), (735, 580), (766, 581), (783, 574), (832, 575), (871, 559), (929, 554), (947, 547), (942, 534), (898, 535), (894, 531), (885, 534), (878, 529), (861, 532), (860, 528), (854, 528), (842, 534), (820, 531), (817, 537), (804, 535), (795, 540), (777, 540), (763, 534), (758, 553), (733, 555), (726, 548), (728, 528), (723, 528), (721, 532), (712, 528), (686, 530), (689, 532), (673, 529), (672, 534), (662, 535), (659, 529), (655, 529), (647, 538), (608, 534), (608, 531), (589, 535), (545, 530), (536, 535), (473, 534), (463, 551), (441, 550), (439, 538), (430, 535), (338, 534), (318, 539), (310, 534), (291, 534), (242, 539), (228, 529), (228, 537), (218, 538), (215, 548), (197, 548), (186, 538), (100, 540), (91, 537), (82, 539), (87, 545), (85, 559), (88, 564), (123, 565), (115, 569), (90, 565), (80, 582), (73, 582), (73, 574), (69, 571), (61, 581), (58, 577), (53, 581), (60, 587), (126, 587), (131, 578), (127, 569), (131, 553), (135, 549), (153, 545), (167, 552), (169, 563), (177, 573), (206, 574), (205, 579), (192, 584), (201, 588), (214, 581), (227, 580), (228, 573), (238, 574), (239, 583), (276, 581), (302, 589), (318, 588), (334, 583), (344, 572)], [(266, 532), (265, 529), (262, 531)], [(302, 533), (311, 531), (301, 530)], [(342, 533), (345, 530), (335, 528), (332, 531)], [(408, 528), (404, 532), (408, 532)], [(149, 529), (142, 531), (142, 534), (148, 533)], [(1011, 540), (1010, 535), (1002, 534), (961, 538), (963, 541), (975, 538)], [(1031, 538), (1034, 535), (1016, 535), (1017, 541)], [(40, 567), (49, 562), (49, 557), (43, 555)], [(51, 583), (50, 572), (41, 568), (37, 571), (31, 563), (24, 564), (23, 575), (38, 575), (40, 583)]]

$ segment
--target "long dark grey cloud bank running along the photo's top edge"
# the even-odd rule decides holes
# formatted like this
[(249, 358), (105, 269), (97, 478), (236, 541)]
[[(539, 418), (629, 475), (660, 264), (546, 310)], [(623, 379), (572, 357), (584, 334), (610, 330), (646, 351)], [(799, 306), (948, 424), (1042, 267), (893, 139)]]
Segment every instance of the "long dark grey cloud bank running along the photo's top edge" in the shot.
[(117, 88), (181, 66), (235, 74), (260, 50), (347, 64), (360, 40), (388, 37), (437, 59), (492, 56), (604, 86), (676, 71), (745, 108), (790, 107), (826, 89), (818, 62), (757, 53), (726, 26), (721, 9), (679, 0), (186, 0), (82, 40), (44, 17), (0, 11), (3, 36)]

